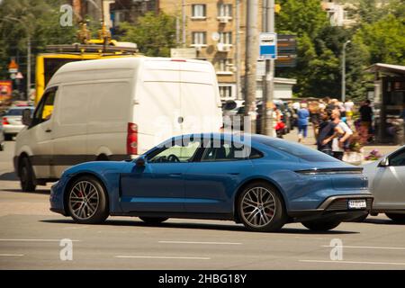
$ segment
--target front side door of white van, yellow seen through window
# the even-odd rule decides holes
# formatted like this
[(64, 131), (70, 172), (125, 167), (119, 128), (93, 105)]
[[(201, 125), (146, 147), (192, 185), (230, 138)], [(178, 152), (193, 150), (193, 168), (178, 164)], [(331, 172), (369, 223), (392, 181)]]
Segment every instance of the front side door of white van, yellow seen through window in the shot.
[(58, 87), (50, 87), (45, 91), (40, 103), (35, 109), (28, 128), (27, 137), (31, 146), (31, 165), (35, 176), (40, 178), (50, 178), (50, 165), (53, 157), (52, 129), (54, 117), (52, 117), (53, 107), (57, 96)]

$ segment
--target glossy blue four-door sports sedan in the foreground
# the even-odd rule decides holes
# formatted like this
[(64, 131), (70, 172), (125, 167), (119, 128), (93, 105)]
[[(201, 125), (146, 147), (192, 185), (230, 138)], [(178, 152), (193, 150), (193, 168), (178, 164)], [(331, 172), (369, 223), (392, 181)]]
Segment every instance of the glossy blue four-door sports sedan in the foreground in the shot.
[(284, 139), (194, 134), (132, 161), (68, 168), (51, 188), (50, 210), (85, 224), (119, 215), (150, 224), (235, 220), (253, 231), (299, 221), (329, 230), (370, 211), (367, 186), (361, 167)]

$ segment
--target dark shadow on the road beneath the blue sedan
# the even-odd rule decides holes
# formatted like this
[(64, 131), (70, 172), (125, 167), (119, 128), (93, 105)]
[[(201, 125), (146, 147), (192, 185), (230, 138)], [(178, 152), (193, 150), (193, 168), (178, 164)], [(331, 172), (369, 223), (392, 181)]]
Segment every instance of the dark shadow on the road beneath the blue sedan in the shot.
[[(74, 220), (66, 219), (66, 220), (40, 220), (41, 222), (45, 223), (64, 223), (64, 224), (73, 224), (78, 225), (75, 223)], [(149, 228), (177, 228), (177, 229), (210, 229), (210, 230), (228, 230), (228, 231), (245, 231), (247, 229), (240, 224), (235, 225), (223, 225), (223, 224), (207, 224), (207, 223), (173, 223), (173, 222), (165, 222), (158, 225), (151, 225), (147, 224), (141, 220), (106, 220), (105, 223), (102, 224), (103, 226), (132, 226), (132, 227), (149, 227)], [(252, 232), (253, 233), (253, 232)], [(258, 232), (257, 232), (258, 233)], [(358, 232), (354, 231), (341, 231), (341, 230), (331, 230), (326, 232), (314, 232), (309, 229), (303, 228), (296, 229), (296, 228), (284, 228), (281, 231), (277, 232), (277, 234), (328, 234), (328, 235), (339, 235), (339, 234), (356, 234)], [(268, 234), (264, 232), (264, 234)]]

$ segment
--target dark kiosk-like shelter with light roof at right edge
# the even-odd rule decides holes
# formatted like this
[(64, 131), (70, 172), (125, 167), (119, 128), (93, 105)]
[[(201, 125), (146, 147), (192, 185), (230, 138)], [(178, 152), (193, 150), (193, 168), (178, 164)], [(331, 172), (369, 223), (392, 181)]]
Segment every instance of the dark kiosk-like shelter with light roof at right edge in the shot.
[(399, 116), (405, 105), (405, 66), (376, 63), (367, 67), (374, 73), (374, 127), (380, 143), (403, 144), (403, 124)]

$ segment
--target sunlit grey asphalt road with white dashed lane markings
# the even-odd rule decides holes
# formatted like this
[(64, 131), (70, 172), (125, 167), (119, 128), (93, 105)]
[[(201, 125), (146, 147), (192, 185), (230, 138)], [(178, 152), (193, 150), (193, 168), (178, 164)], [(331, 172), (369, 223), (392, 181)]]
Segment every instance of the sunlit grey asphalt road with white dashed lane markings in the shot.
[[(0, 269), (405, 269), (404, 225), (383, 215), (327, 233), (287, 224), (247, 232), (230, 221), (111, 217), (78, 225), (49, 211), (49, 186), (22, 193), (13, 173), (14, 142), (0, 152)], [(72, 240), (72, 254), (60, 246)], [(343, 245), (330, 257), (331, 241)], [(66, 243), (66, 242), (63, 242)], [(63, 244), (62, 243), (62, 244)], [(336, 248), (335, 250), (336, 251)], [(62, 253), (61, 253), (62, 252)], [(72, 256), (72, 260), (61, 260)]]

